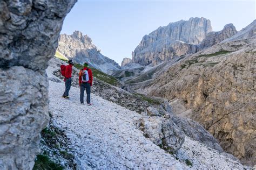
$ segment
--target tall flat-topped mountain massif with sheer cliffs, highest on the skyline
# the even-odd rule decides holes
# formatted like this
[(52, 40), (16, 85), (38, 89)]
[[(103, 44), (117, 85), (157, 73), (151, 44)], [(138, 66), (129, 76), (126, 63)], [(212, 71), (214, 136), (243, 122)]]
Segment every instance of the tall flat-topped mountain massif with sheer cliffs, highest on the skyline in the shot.
[(132, 62), (156, 65), (159, 62), (196, 52), (194, 45), (205, 39), (212, 31), (211, 22), (205, 18), (190, 18), (159, 27), (143, 37), (132, 52)]

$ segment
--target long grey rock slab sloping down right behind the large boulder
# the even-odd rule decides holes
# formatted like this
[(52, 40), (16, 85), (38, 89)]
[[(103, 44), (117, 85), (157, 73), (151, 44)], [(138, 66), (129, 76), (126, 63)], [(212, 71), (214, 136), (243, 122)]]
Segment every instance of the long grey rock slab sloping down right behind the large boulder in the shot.
[(203, 143), (214, 150), (223, 152), (223, 148), (221, 148), (218, 141), (199, 123), (194, 122), (191, 119), (176, 116), (173, 116), (171, 119), (188, 137), (200, 141), (200, 143)]

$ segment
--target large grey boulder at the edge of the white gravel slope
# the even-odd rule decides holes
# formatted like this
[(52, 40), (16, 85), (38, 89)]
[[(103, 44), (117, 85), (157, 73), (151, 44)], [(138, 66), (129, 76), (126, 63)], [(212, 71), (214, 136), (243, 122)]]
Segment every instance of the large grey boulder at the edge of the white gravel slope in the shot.
[(142, 117), (138, 121), (138, 128), (144, 132), (145, 137), (167, 152), (177, 152), (185, 140), (185, 134), (171, 119)]

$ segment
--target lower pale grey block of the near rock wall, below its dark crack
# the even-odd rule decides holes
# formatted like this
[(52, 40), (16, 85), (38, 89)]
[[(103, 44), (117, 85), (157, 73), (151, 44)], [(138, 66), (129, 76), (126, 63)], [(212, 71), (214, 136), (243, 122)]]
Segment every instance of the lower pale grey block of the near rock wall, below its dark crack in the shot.
[(0, 168), (32, 169), (39, 133), (49, 121), (48, 81), (22, 66), (0, 73)]

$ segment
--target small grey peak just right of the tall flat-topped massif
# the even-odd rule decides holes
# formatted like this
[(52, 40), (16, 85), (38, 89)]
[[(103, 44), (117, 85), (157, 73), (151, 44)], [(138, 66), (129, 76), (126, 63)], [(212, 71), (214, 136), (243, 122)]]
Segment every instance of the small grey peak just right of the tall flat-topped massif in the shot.
[(219, 42), (234, 36), (237, 33), (233, 24), (227, 24), (224, 29), (218, 32), (210, 32), (206, 38), (198, 45), (198, 51), (204, 48), (211, 47)]

